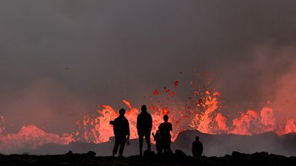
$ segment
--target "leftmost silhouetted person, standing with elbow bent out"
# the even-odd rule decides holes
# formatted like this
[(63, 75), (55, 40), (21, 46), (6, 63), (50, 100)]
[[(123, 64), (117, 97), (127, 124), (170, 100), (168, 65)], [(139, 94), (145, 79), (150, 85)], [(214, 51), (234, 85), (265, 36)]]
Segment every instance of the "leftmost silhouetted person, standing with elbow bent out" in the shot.
[(124, 114), (125, 109), (119, 110), (119, 117), (116, 117), (114, 121), (110, 122), (110, 124), (113, 124), (113, 131), (115, 137), (115, 144), (112, 152), (113, 156), (117, 153), (119, 146), (119, 156), (122, 156), (125, 141), (130, 139), (130, 124), (128, 120), (125, 118)]

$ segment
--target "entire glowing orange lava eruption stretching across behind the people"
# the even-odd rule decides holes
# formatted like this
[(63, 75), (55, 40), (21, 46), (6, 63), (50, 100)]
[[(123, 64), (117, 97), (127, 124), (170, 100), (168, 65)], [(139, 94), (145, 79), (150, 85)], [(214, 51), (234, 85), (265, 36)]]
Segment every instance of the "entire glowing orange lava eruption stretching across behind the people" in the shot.
[[(208, 72), (199, 74), (201, 77), (208, 77)], [(206, 83), (212, 83), (213, 79), (208, 79)], [(163, 115), (169, 115), (169, 122), (173, 124), (171, 132), (172, 141), (183, 130), (199, 130), (202, 133), (223, 134), (232, 133), (236, 135), (254, 135), (268, 131), (273, 131), (278, 135), (296, 132), (296, 121), (288, 120), (285, 126), (276, 124), (273, 109), (264, 107), (260, 111), (248, 109), (245, 113), (237, 115), (233, 120), (227, 119), (221, 94), (216, 89), (211, 89), (210, 85), (204, 87), (191, 81), (192, 96), (185, 102), (177, 102), (177, 94), (172, 89), (179, 87), (179, 81), (173, 83), (173, 88), (164, 87), (164, 91), (153, 91), (153, 96), (158, 99), (151, 103), (146, 103), (153, 119), (152, 132), (158, 130), (158, 126), (163, 122)], [(165, 95), (162, 95), (162, 94)], [(166, 96), (167, 98), (163, 98)], [(132, 103), (122, 100), (126, 105), (125, 117), (130, 122), (130, 137), (136, 139), (136, 119), (140, 110), (132, 107)], [(110, 121), (118, 117), (118, 110), (110, 105), (101, 105), (95, 115), (84, 115), (83, 120), (77, 122), (78, 130), (74, 133), (64, 133), (62, 136), (46, 133), (40, 128), (29, 125), (22, 126), (21, 130), (15, 134), (6, 134), (4, 117), (0, 116), (0, 150), (1, 152), (14, 152), (21, 148), (38, 148), (45, 143), (67, 144), (71, 141), (86, 141), (101, 143), (110, 141), (113, 137), (113, 128)], [(153, 140), (153, 139), (151, 139)]]

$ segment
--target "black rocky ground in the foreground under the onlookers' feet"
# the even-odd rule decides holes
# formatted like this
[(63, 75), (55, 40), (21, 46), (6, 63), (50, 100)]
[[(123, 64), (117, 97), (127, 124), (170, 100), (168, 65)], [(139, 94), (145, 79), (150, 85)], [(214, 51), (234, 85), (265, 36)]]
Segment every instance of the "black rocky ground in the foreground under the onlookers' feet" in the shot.
[(112, 157), (87, 154), (29, 155), (0, 154), (0, 165), (296, 165), (296, 157), (286, 157), (267, 152), (243, 154), (232, 152), (222, 157), (193, 158), (181, 150), (175, 154), (150, 154), (144, 156)]

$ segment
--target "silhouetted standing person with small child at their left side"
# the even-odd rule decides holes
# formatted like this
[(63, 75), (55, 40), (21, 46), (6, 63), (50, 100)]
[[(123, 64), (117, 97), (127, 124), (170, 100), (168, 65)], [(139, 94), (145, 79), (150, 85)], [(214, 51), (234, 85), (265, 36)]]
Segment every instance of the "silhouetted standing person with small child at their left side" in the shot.
[(171, 130), (172, 124), (168, 122), (169, 116), (164, 115), (164, 122), (160, 124), (160, 136), (161, 136), (161, 145), (164, 150), (164, 153), (171, 152)]

